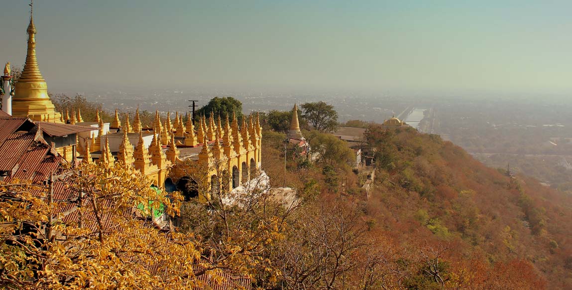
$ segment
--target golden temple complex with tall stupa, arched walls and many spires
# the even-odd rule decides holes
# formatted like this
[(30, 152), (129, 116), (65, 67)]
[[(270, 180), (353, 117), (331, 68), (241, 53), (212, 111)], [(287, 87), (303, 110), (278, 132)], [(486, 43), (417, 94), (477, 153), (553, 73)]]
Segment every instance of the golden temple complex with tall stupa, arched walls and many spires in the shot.
[[(96, 120), (84, 120), (81, 111), (73, 108), (57, 112), (39, 70), (36, 32), (30, 13), (21, 77), (14, 84), (7, 64), (0, 80), (0, 123), (6, 124), (0, 128), (2, 178), (42, 181), (59, 170), (56, 165), (61, 162), (98, 162), (103, 166), (132, 166), (158, 188), (181, 190), (186, 197), (200, 201), (255, 178), (261, 163), (258, 116), (237, 120), (233, 114), (232, 120), (227, 117), (224, 121), (220, 116), (203, 116), (194, 124), (190, 116), (185, 120), (178, 112), (174, 122), (170, 114), (162, 121), (157, 111), (154, 124), (145, 127), (149, 124), (141, 124), (138, 109), (133, 123), (129, 116), (121, 120), (117, 110), (112, 122), (104, 122), (99, 113)], [(294, 117), (292, 120), (294, 123)], [(299, 125), (292, 128), (297, 128), (300, 138)], [(14, 144), (21, 150), (11, 150)], [(27, 148), (41, 149), (34, 153), (34, 162), (26, 159), (26, 154), (31, 154)], [(50, 166), (41, 166), (47, 164), (45, 160)]]

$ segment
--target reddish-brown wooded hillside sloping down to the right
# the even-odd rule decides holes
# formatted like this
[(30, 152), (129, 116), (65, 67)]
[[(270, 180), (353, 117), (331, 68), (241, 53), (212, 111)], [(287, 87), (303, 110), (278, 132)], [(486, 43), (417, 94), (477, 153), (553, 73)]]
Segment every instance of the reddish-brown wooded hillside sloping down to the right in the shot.
[[(283, 157), (272, 134), (265, 144), (274, 160), (265, 170), (281, 183)], [(285, 177), (304, 194), (319, 188), (315, 204), (359, 210), (363, 245), (351, 252), (355, 265), (348, 277), (344, 273), (346, 283), (362, 289), (572, 287), (572, 197), (487, 168), (436, 135), (374, 126), (367, 137), (377, 167), (369, 199), (355, 187), (359, 177), (343, 166), (334, 175), (345, 190), (328, 186), (331, 172), (320, 164), (300, 168), (288, 158)]]

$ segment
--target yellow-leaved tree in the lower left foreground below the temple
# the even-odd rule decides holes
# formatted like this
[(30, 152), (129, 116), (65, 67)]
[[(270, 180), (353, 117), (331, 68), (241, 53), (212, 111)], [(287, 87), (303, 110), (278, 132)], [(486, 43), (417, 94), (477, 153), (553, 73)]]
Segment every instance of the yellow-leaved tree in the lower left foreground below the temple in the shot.
[(78, 196), (56, 203), (47, 186), (0, 184), (0, 288), (197, 289), (202, 281), (223, 283), (228, 272), (255, 275), (259, 252), (236, 243), (260, 238), (268, 244), (267, 236), (244, 233), (217, 254), (219, 248), (193, 233), (154, 226), (162, 212), (178, 213), (180, 194), (165, 196), (121, 165), (84, 164), (68, 172), (57, 188)]

